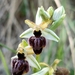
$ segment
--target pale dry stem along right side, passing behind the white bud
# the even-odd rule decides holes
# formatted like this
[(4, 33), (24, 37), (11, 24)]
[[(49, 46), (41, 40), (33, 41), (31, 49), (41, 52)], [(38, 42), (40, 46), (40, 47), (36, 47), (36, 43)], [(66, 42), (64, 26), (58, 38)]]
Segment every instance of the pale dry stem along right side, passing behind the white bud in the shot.
[[(59, 0), (54, 0), (57, 7), (60, 7), (61, 6), (61, 3)], [(69, 43), (70, 43), (70, 49), (71, 49), (71, 54), (72, 54), (72, 61), (73, 61), (73, 65), (74, 65), (74, 70), (75, 70), (75, 48), (74, 48), (74, 41), (73, 41), (73, 38), (72, 38), (72, 35), (71, 35), (71, 31), (69, 29), (69, 26), (68, 26), (68, 23), (67, 23), (67, 20), (65, 19), (64, 20), (64, 26), (66, 28), (66, 32), (67, 32), (67, 35), (68, 35), (68, 39), (69, 39)]]

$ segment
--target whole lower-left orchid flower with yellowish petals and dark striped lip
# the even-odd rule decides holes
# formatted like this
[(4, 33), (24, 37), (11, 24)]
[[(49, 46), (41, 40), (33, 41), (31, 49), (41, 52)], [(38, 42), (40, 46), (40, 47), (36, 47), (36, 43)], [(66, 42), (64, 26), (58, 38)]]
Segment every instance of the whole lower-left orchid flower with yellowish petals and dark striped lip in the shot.
[(13, 75), (22, 75), (29, 71), (29, 66), (41, 69), (39, 63), (32, 55), (34, 54), (31, 46), (28, 46), (25, 40), (19, 44), (16, 56), (11, 58)]

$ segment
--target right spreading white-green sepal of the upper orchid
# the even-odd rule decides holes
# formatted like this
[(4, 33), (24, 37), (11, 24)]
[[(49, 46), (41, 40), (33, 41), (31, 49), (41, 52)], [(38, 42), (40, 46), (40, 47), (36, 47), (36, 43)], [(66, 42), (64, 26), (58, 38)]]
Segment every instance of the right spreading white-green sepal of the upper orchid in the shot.
[(53, 40), (58, 42), (59, 41), (59, 37), (50, 29), (46, 28), (44, 30), (42, 30), (42, 35), (49, 40)]

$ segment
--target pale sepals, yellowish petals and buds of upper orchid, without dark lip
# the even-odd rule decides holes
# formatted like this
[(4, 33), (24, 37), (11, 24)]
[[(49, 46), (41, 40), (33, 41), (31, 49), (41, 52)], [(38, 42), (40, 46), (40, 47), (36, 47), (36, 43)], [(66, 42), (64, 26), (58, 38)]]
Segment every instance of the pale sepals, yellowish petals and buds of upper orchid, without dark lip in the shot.
[[(25, 23), (30, 28), (25, 30), (20, 35), (20, 38), (29, 38), (33, 36), (34, 30), (40, 30), (42, 36), (44, 36), (46, 39), (58, 42), (59, 37), (51, 29), (57, 28), (64, 18), (65, 10), (63, 6), (57, 8), (55, 11), (53, 7), (49, 7), (47, 11), (45, 11), (43, 7), (39, 7), (36, 14), (35, 23), (30, 20), (25, 20)], [(47, 28), (49, 24), (50, 29)]]

